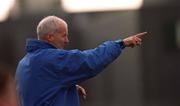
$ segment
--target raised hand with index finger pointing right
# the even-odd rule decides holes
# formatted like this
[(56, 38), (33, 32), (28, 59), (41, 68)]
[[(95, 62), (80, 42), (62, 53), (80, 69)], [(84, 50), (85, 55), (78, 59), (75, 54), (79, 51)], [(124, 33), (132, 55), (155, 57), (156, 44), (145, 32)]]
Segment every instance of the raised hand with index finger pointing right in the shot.
[(123, 39), (126, 47), (139, 46), (142, 43), (142, 38), (147, 34), (147, 32), (138, 33)]

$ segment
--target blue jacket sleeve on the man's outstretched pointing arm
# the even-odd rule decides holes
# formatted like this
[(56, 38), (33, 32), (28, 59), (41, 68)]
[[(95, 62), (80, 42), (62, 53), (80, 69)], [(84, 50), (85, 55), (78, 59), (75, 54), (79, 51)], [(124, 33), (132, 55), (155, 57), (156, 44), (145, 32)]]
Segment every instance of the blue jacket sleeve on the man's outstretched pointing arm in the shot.
[(63, 83), (74, 85), (96, 76), (120, 55), (124, 47), (122, 41), (107, 41), (94, 49), (67, 51), (63, 68), (62, 64), (60, 66), (60, 72), (65, 76)]

